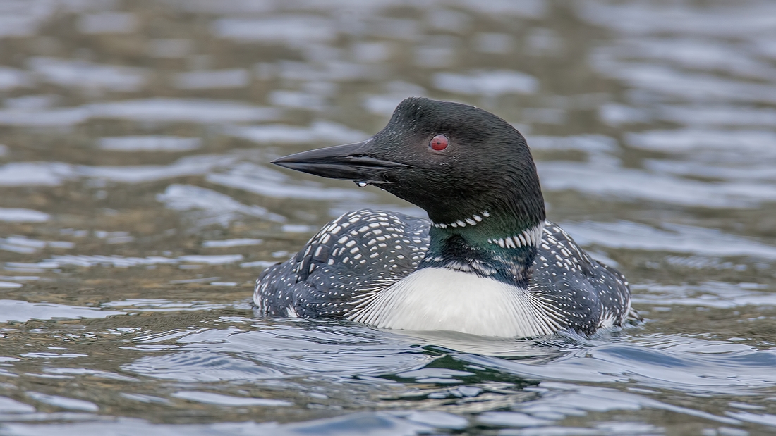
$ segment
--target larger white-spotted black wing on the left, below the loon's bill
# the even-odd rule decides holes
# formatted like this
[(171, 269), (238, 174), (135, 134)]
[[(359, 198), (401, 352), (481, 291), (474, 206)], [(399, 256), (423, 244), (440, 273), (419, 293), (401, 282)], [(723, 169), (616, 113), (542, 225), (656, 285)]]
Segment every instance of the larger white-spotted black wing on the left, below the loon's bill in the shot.
[(397, 212), (348, 212), (292, 259), (265, 269), (253, 300), (269, 315), (341, 316), (417, 268), (429, 226), (427, 219)]

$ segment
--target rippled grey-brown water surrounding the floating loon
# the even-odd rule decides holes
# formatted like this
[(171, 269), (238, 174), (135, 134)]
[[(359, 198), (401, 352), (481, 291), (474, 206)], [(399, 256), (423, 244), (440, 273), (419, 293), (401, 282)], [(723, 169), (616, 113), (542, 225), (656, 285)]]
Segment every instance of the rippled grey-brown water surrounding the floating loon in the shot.
[[(0, 2), (0, 434), (776, 431), (776, 5)], [(268, 165), (409, 95), (495, 112), (646, 323), (264, 319), (374, 187)]]

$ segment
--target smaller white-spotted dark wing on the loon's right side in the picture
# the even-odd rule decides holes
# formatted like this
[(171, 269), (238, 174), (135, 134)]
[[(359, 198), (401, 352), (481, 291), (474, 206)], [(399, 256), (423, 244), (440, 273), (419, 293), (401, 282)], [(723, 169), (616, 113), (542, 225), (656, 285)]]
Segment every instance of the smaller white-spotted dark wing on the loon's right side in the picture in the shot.
[(625, 276), (591, 259), (553, 222), (545, 223), (534, 267), (528, 291), (548, 304), (561, 325), (592, 333), (629, 316), (639, 318), (630, 308)]

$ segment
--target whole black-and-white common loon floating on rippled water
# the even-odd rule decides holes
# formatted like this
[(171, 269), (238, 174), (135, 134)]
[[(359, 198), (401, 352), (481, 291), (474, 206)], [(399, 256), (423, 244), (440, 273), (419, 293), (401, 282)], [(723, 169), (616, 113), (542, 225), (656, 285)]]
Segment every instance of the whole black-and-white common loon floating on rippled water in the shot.
[(523, 136), (469, 105), (407, 98), (364, 142), (272, 161), (373, 184), (428, 212), (334, 219), (256, 280), (262, 314), (532, 337), (640, 319), (625, 276), (545, 220)]

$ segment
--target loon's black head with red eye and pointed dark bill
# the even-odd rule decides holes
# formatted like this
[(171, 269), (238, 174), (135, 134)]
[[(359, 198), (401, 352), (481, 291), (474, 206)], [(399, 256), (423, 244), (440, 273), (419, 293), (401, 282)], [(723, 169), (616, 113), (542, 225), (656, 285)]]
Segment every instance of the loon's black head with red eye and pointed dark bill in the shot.
[(537, 228), (545, 219), (523, 136), (496, 115), (460, 103), (407, 98), (364, 142), (272, 163), (374, 184), (423, 208), (435, 228), (483, 243)]

